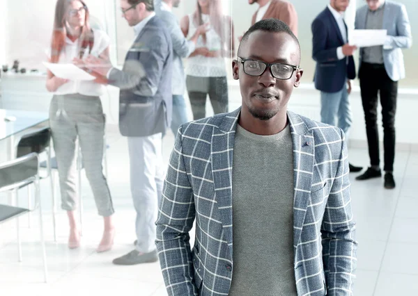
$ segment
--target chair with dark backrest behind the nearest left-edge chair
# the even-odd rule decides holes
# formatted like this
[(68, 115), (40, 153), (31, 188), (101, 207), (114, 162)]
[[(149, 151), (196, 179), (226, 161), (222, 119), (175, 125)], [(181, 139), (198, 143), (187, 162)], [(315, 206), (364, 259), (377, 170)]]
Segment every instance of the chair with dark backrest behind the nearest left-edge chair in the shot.
[[(33, 131), (31, 133), (26, 133), (25, 135), (20, 138), (19, 142), (17, 143), (16, 147), (16, 156), (22, 157), (26, 154), (36, 152), (37, 154), (46, 153), (47, 154), (47, 161), (45, 161), (45, 168), (47, 169), (47, 175), (46, 176), (40, 176), (40, 179), (46, 179), (49, 177), (49, 181), (51, 182), (51, 196), (52, 196), (52, 208), (54, 211), (54, 204), (55, 204), (55, 198), (54, 198), (54, 183), (52, 180), (52, 174), (51, 174), (51, 130), (49, 128), (43, 128), (36, 131)], [(28, 192), (30, 192), (28, 190)], [(29, 195), (28, 198), (29, 201), (29, 207), (31, 206), (31, 197)], [(29, 227), (31, 227), (31, 215), (28, 215), (29, 219)], [(56, 241), (56, 231), (55, 231), (55, 215), (52, 216), (52, 222), (54, 224), (54, 240)]]

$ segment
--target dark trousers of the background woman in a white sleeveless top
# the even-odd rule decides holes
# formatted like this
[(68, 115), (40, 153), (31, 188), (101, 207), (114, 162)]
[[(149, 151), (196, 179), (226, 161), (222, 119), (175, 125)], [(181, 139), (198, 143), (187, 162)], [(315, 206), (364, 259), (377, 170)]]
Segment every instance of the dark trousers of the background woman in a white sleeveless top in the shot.
[(213, 113), (228, 112), (228, 83), (226, 82), (226, 76), (196, 77), (188, 75), (186, 85), (194, 120), (206, 117), (206, 97), (208, 94)]

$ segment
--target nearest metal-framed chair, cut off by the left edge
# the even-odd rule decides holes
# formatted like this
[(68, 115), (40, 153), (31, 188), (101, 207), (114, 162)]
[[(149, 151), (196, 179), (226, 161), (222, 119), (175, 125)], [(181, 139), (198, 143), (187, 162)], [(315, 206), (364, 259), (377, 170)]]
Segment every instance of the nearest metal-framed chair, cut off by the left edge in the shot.
[[(44, 279), (45, 283), (48, 279), (47, 271), (47, 256), (45, 251), (45, 240), (43, 234), (42, 224), (42, 206), (40, 202), (39, 194), (39, 160), (38, 154), (31, 153), (26, 156), (22, 156), (13, 161), (0, 164), (0, 192), (13, 192), (15, 200), (13, 205), (0, 204), (0, 223), (6, 222), (11, 219), (16, 219), (17, 229), (17, 251), (19, 255), (19, 261), (22, 262), (22, 246), (20, 242), (20, 227), (19, 217), (26, 213), (34, 211), (39, 208), (39, 225), (40, 225), (40, 242), (42, 245), (42, 258), (44, 265)], [(33, 185), (35, 187), (35, 206), (33, 208), (22, 208), (18, 206), (18, 190), (26, 186)], [(29, 190), (28, 190), (29, 192)]]

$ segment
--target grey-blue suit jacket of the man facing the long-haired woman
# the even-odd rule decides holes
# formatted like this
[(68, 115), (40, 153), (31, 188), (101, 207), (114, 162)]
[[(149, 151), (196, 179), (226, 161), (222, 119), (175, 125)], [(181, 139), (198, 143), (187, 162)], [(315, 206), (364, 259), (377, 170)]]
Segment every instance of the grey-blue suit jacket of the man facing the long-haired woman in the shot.
[(112, 69), (109, 84), (121, 88), (119, 130), (128, 137), (164, 132), (171, 124), (172, 44), (157, 16), (149, 20), (127, 52), (123, 69)]

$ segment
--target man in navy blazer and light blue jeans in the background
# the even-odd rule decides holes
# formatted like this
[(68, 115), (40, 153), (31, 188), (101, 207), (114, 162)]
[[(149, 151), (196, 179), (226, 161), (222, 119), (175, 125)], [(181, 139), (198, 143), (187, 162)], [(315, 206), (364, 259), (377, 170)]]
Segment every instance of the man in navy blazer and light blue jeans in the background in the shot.
[[(320, 90), (321, 122), (338, 126), (348, 133), (351, 126), (351, 108), (348, 94), (350, 79), (355, 79), (353, 52), (343, 13), (350, 0), (331, 0), (327, 8), (312, 22), (312, 58), (316, 60), (315, 88)], [(336, 118), (338, 117), (338, 122)], [(350, 164), (350, 172), (362, 167)]]

